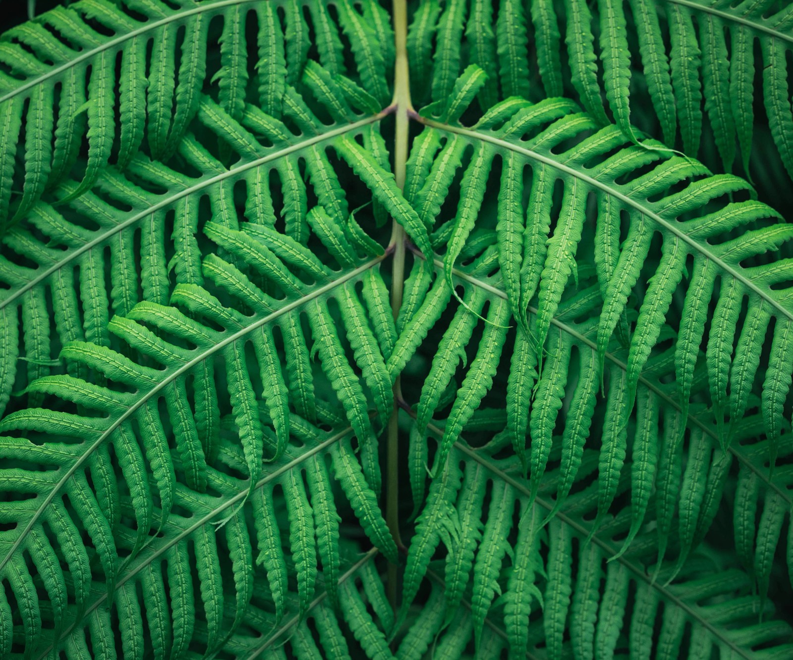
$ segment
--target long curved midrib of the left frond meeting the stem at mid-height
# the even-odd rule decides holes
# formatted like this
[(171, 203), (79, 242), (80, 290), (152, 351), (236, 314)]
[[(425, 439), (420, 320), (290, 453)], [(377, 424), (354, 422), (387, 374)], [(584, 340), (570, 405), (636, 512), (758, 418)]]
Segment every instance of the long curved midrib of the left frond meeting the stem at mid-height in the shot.
[(157, 395), (160, 391), (163, 391), (167, 385), (174, 382), (179, 376), (182, 376), (186, 372), (189, 372), (191, 368), (200, 364), (201, 362), (205, 361), (208, 357), (219, 351), (220, 349), (224, 348), (227, 345), (232, 344), (234, 341), (237, 341), (239, 338), (244, 337), (246, 334), (256, 330), (259, 327), (265, 326), (266, 324), (274, 321), (274, 319), (278, 319), (278, 317), (286, 314), (289, 311), (297, 307), (301, 307), (309, 300), (315, 299), (319, 296), (322, 296), (324, 293), (327, 293), (333, 290), (336, 287), (341, 286), (345, 282), (353, 279), (354, 277), (358, 276), (360, 273), (365, 273), (366, 270), (374, 268), (375, 265), (383, 261), (391, 252), (393, 251), (393, 247), (389, 246), (387, 250), (380, 256), (370, 259), (370, 261), (366, 261), (366, 263), (359, 265), (358, 268), (355, 268), (347, 273), (344, 273), (341, 277), (337, 277), (335, 280), (331, 280), (327, 284), (314, 289), (312, 292), (307, 293), (305, 296), (301, 296), (298, 299), (293, 300), (292, 302), (286, 304), (284, 307), (281, 307), (277, 311), (271, 312), (268, 315), (263, 316), (261, 319), (257, 319), (254, 322), (251, 322), (247, 326), (237, 330), (235, 333), (230, 334), (227, 338), (224, 338), (222, 341), (218, 341), (213, 346), (209, 347), (205, 351), (199, 353), (196, 357), (190, 359), (185, 364), (182, 364), (181, 367), (174, 369), (174, 371), (170, 372), (167, 376), (163, 376), (163, 380), (159, 381), (159, 383), (155, 384), (154, 387), (151, 387), (151, 390), (148, 390), (145, 395), (141, 396), (140, 399), (137, 399), (132, 406), (129, 406), (122, 414), (118, 415), (118, 417), (114, 420), (114, 422), (109, 426), (108, 429), (105, 430), (104, 433), (100, 437), (97, 438), (90, 445), (89, 448), (86, 449), (86, 452), (83, 452), (82, 455), (75, 461), (75, 463), (63, 474), (63, 477), (56, 483), (56, 486), (47, 494), (47, 497), (44, 498), (44, 501), (41, 503), (36, 512), (33, 513), (33, 516), (30, 518), (25, 528), (22, 530), (21, 534), (17, 537), (17, 540), (13, 542), (13, 545), (10, 547), (10, 550), (6, 553), (6, 556), (0, 562), (0, 570), (6, 566), (13, 556), (14, 552), (17, 551), (17, 548), (22, 544), (25, 538), (28, 536), (30, 530), (33, 528), (33, 525), (36, 524), (36, 521), (44, 512), (44, 509), (48, 507), (50, 502), (56, 497), (56, 494), (60, 492), (63, 488), (63, 485), (67, 483), (71, 476), (75, 474), (75, 472), (79, 469), (82, 464), (88, 460), (91, 454), (102, 445), (102, 443), (107, 440), (110, 435), (128, 418), (132, 417), (135, 414), (136, 410), (143, 406), (144, 403), (148, 402), (152, 399), (155, 395)]

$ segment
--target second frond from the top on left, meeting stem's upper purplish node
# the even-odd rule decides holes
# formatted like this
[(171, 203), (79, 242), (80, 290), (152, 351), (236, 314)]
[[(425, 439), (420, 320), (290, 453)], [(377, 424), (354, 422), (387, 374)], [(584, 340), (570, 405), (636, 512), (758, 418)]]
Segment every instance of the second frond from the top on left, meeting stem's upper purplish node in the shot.
[[(341, 99), (329, 97), (328, 103), (343, 99), (338, 88), (334, 91)], [(293, 93), (292, 98), (299, 97)], [(287, 110), (285, 114), (292, 116), (292, 112)], [(381, 115), (361, 116), (348, 110), (343, 123), (328, 127), (310, 113), (308, 106), (297, 107), (295, 112), (309, 113), (304, 116), (310, 122), (306, 127), (311, 128), (310, 135), (295, 135), (279, 120), (252, 107), (243, 116), (243, 122), (253, 133), (247, 132), (220, 106), (205, 99), (198, 109), (197, 120), (204, 130), (217, 135), (242, 157), (232, 168), (217, 160), (205, 143), (190, 136), (179, 147), (183, 166), (172, 169), (138, 156), (125, 174), (104, 170), (96, 192), (84, 193), (57, 206), (44, 201), (36, 203), (25, 223), (6, 234), (0, 256), (0, 277), (7, 285), (0, 300), (3, 326), (10, 330), (9, 324), (16, 322), (14, 319), (21, 314), (24, 329), (18, 341), (5, 347), (0, 403), (5, 406), (13, 388), (13, 363), (17, 355), (27, 360), (27, 378), (23, 375), (21, 383), (17, 381), (17, 388), (21, 388), (26, 382), (57, 372), (46, 363), (56, 357), (53, 353), (57, 352), (59, 343), (86, 339), (108, 345), (110, 337), (105, 330), (108, 309), (125, 315), (141, 297), (164, 304), (175, 284), (201, 284), (205, 278), (201, 273), (202, 248), (197, 238), (199, 226), (204, 222), (199, 219), (201, 200), (209, 199), (217, 224), (236, 230), (238, 212), (230, 202), (230, 195), (238, 183), (249, 195), (244, 216), (251, 231), (259, 232), (266, 241), (273, 240), (274, 235), (283, 237), (277, 238), (278, 246), (273, 250), (289, 267), (299, 267), (312, 277), (327, 273), (305, 247), (307, 220), (320, 212), (312, 211), (309, 217), (306, 200), (307, 195), (314, 193), (326, 210), (335, 210), (347, 218), (343, 193), (338, 183), (333, 183), (337, 174), (326, 151), (331, 146), (338, 148), (343, 158), (369, 181), (375, 196), (382, 197), (389, 212), (410, 218), (409, 231), (421, 243), (416, 231), (423, 233), (423, 227), (419, 227), (415, 213), (404, 200), (397, 201), (393, 177), (379, 163), (370, 160), (354, 140), (342, 143), (347, 131), (356, 134)], [(262, 142), (256, 135), (261, 136)], [(310, 186), (292, 160), (301, 157), (306, 158)], [(190, 168), (203, 175), (196, 179), (186, 174), (185, 170), (189, 172)], [(280, 183), (274, 187), (274, 193), (282, 199), (280, 208), (274, 205), (270, 195), (270, 177), (274, 176)], [(118, 208), (119, 204), (125, 207), (124, 211)], [(164, 224), (170, 218), (173, 218), (173, 233), (166, 235)], [(276, 221), (285, 223), (285, 232), (272, 230)], [(321, 227), (312, 229), (322, 231)], [(169, 254), (171, 238), (175, 254)], [(140, 242), (140, 260), (133, 254), (137, 242)], [(326, 242), (331, 246), (330, 235), (326, 236)], [(347, 254), (354, 255), (349, 246), (345, 249)], [(338, 252), (335, 257), (343, 258)], [(354, 258), (357, 260), (357, 255)], [(100, 274), (107, 264), (111, 266), (109, 286)], [(78, 282), (79, 299), (76, 299), (72, 292)], [(51, 319), (47, 319), (48, 299), (52, 299), (55, 309)], [(81, 308), (85, 318), (79, 323)], [(75, 364), (66, 361), (64, 366), (72, 375), (81, 376)], [(31, 400), (35, 404), (38, 399)]]

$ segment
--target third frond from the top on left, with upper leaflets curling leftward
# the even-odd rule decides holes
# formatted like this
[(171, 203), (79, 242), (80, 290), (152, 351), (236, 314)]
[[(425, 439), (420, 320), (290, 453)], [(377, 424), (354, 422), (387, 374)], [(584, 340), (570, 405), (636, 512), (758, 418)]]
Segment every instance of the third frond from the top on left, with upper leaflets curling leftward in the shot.
[[(277, 460), (285, 451), (289, 438), (291, 397), (283, 380), (282, 361), (274, 346), (274, 328), (280, 327), (282, 336), (285, 336), (283, 317), (292, 317), (293, 322), (289, 324), (289, 328), (295, 330), (301, 327), (303, 312), (307, 315), (308, 326), (314, 335), (314, 347), (320, 353), (324, 372), (329, 382), (339, 391), (344, 409), (358, 437), (366, 478), (376, 490), (379, 487), (376, 438), (370, 425), (366, 395), (343, 353), (328, 311), (327, 299), (335, 297), (340, 302), (347, 301), (342, 303), (341, 313), (342, 318), (347, 318), (352, 328), (357, 329), (363, 323), (368, 323), (358, 293), (351, 286), (363, 273), (377, 266), (381, 258), (364, 261), (362, 264), (348, 264), (347, 270), (342, 273), (333, 273), (326, 267), (322, 279), (307, 285), (296, 275), (289, 273), (282, 261), (263, 243), (257, 242), (245, 232), (227, 229), (215, 223), (208, 223), (205, 232), (218, 246), (227, 250), (240, 266), (249, 267), (249, 274), (258, 273), (265, 278), (264, 281), (278, 287), (282, 292), (281, 296), (285, 294), (285, 297), (278, 300), (270, 296), (256, 287), (245, 272), (210, 254), (205, 260), (203, 275), (220, 292), (232, 296), (232, 299), (239, 301), (237, 304), (240, 307), (249, 311), (243, 313), (233, 306), (224, 306), (216, 296), (197, 284), (177, 284), (172, 300), (189, 311), (190, 315), (178, 311), (176, 307), (144, 302), (133, 307), (128, 317), (114, 317), (109, 322), (109, 330), (135, 349), (141, 356), (140, 362), (85, 341), (74, 341), (65, 345), (65, 356), (80, 364), (86, 372), (101, 372), (113, 384), (99, 386), (75, 376), (44, 377), (33, 383), (29, 389), (71, 402), (78, 406), (77, 412), (20, 410), (8, 415), (2, 422), (2, 429), (6, 432), (17, 430), (28, 434), (48, 434), (48, 447), (51, 448), (57, 446), (54, 438), (59, 437), (65, 448), (59, 452), (57, 460), (58, 464), (63, 464), (63, 475), (58, 471), (50, 473), (50, 479), (45, 480), (51, 486), (47, 497), (36, 507), (27, 506), (18, 511), (13, 517), (13, 528), (4, 532), (8, 542), (3, 567), (16, 565), (15, 553), (26, 547), (30, 535), (44, 521), (49, 522), (53, 515), (64, 515), (64, 496), (71, 502), (78, 496), (71, 484), (82, 484), (79, 486), (79, 501), (84, 502), (84, 505), (80, 507), (79, 513), (86, 524), (95, 520), (88, 529), (100, 556), (105, 559), (104, 568), (108, 580), (113, 582), (116, 578), (116, 567), (111, 555), (115, 546), (113, 537), (109, 536), (110, 528), (103, 522), (105, 518), (98, 513), (98, 508), (103, 504), (105, 506), (102, 508), (109, 507), (107, 516), (110, 525), (116, 524), (121, 515), (117, 505), (105, 503), (107, 500), (112, 504), (113, 498), (118, 497), (117, 475), (110, 464), (108, 445), (113, 447), (117, 456), (137, 457), (132, 464), (121, 463), (121, 476), (131, 489), (135, 486), (133, 498), (146, 502), (153, 495), (159, 498), (161, 514), (153, 533), (162, 532), (174, 505), (177, 505), (174, 500), (177, 482), (183, 479), (187, 486), (197, 491), (205, 490), (208, 486), (206, 471), (208, 465), (212, 464), (212, 456), (208, 453), (206, 442), (202, 443), (207, 438), (201, 437), (197, 424), (197, 418), (200, 420), (205, 411), (197, 410), (197, 414), (193, 416), (187, 402), (187, 391), (197, 390), (203, 370), (208, 372), (211, 380), (215, 380), (220, 374), (225, 375), (228, 391), (221, 393), (213, 388), (207, 392), (203, 402), (209, 409), (206, 412), (216, 417), (216, 410), (224, 405), (224, 400), (228, 400), (234, 435), (243, 452), (243, 474), (247, 476), (252, 494), (259, 482), (262, 456), (265, 460)], [(275, 294), (275, 289), (270, 291)], [(352, 319), (351, 315), (358, 315), (357, 320)], [(305, 342), (305, 339), (302, 341)], [(355, 346), (355, 341), (362, 340), (358, 334), (354, 334), (352, 341)], [(254, 349), (253, 362), (251, 357), (246, 356), (246, 345), (249, 342)], [(379, 369), (385, 382), (390, 383), (374, 335), (370, 335), (366, 351), (362, 349), (362, 345), (358, 345), (358, 348), (361, 350), (355, 350), (356, 361), (362, 368), (365, 380), (374, 382), (373, 375)], [(144, 362), (158, 366), (145, 366)], [(257, 363), (259, 378), (252, 375), (248, 366)], [(267, 430), (269, 425), (262, 426), (259, 418), (255, 393), (255, 389), (259, 387), (256, 387), (256, 382), (262, 383), (259, 387), (263, 388), (262, 399), (272, 432)], [(290, 386), (294, 391), (301, 387), (310, 387), (311, 391), (304, 392), (303, 395), (309, 398), (316, 396), (311, 381), (290, 383)], [(390, 389), (387, 388), (386, 392), (390, 395)], [(163, 402), (164, 408), (160, 406), (160, 402)], [(390, 410), (388, 401), (380, 402), (377, 407), (381, 414), (387, 414)], [(86, 412), (80, 412), (81, 410)], [(99, 416), (87, 416), (88, 410)], [(181, 470), (170, 456), (171, 433), (182, 464)], [(30, 452), (35, 448), (35, 445), (23, 437), (10, 439), (8, 443), (8, 457), (15, 457), (18, 452)], [(29, 456), (29, 459), (33, 456), (36, 454)], [(40, 456), (38, 460), (45, 463), (47, 461), (44, 456)], [(366, 494), (370, 486), (362, 478), (358, 462), (354, 461), (354, 466), (351, 466), (349, 459), (344, 459), (343, 455), (335, 460), (341, 462), (338, 468), (340, 479), (351, 489), (354, 509), (371, 511), (374, 496)], [(140, 474), (146, 474), (147, 471), (151, 471), (155, 479), (154, 493), (149, 492), (146, 479)], [(89, 475), (96, 487), (95, 494), (90, 492), (88, 486)], [(318, 486), (321, 484), (320, 480)], [(12, 471), (6, 481), (6, 488), (18, 490), (19, 487), (17, 475)], [(290, 509), (290, 520), (293, 520), (297, 530), (303, 530), (295, 532), (298, 536), (293, 539), (293, 543), (300, 546), (304, 544), (307, 533), (307, 501), (305, 495), (301, 495), (301, 483), (290, 483), (288, 487), (285, 486), (285, 490), (287, 499), (296, 507)], [(52, 513), (56, 509), (61, 513)], [(308, 511), (310, 517), (310, 509)], [(316, 512), (320, 512), (318, 506)], [(332, 512), (326, 514), (328, 520), (333, 517)], [(373, 526), (376, 519), (370, 513), (362, 517), (367, 531), (376, 534), (378, 547), (393, 555), (393, 545), (389, 551), (387, 543), (388, 533)], [(136, 512), (136, 521), (138, 540), (132, 548), (133, 555), (144, 543), (151, 540), (149, 536), (154, 519), (144, 506), (140, 512)], [(324, 542), (321, 547), (324, 547), (323, 555), (327, 559), (327, 543)], [(295, 552), (305, 558), (308, 549), (298, 547)], [(302, 563), (307, 567), (306, 561), (301, 559), (298, 566)], [(311, 584), (307, 577), (301, 591), (310, 592)], [(304, 601), (303, 606), (307, 606), (307, 601)]]

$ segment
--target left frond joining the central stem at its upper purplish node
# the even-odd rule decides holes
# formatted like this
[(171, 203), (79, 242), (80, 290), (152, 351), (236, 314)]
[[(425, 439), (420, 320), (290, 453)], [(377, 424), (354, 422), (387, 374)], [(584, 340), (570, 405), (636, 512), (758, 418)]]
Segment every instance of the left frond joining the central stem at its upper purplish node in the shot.
[[(339, 185), (339, 157), (370, 186), (372, 193), (364, 199), (374, 195), (381, 208), (413, 223), (408, 231), (419, 229), (389, 174), (377, 129), (381, 115), (367, 105), (374, 100), (352, 82), (339, 86), (319, 66), (307, 68), (305, 85), (307, 96), (313, 91), (331, 108), (334, 123), (317, 119), (292, 88), (285, 97), (291, 104), (285, 120), (297, 124), (299, 131), (247, 106), (242, 120), (249, 131), (204, 99), (196, 133), (178, 147), (178, 162), (164, 166), (138, 156), (124, 174), (106, 169), (94, 191), (66, 204), (37, 202), (25, 223), (6, 233), (0, 255), (0, 277), (6, 284), (0, 296), (0, 407), (5, 408), (11, 391), (21, 391), (64, 364), (79, 376), (68, 358), (58, 363), (59, 347), (83, 339), (109, 345), (109, 315), (125, 315), (140, 300), (166, 304), (176, 284), (200, 285), (206, 277), (201, 255), (216, 249), (201, 238), (210, 215), (213, 236), (218, 227), (236, 230), (240, 217), (247, 220), (259, 238), (246, 240), (276, 241), (267, 254), (277, 255), (282, 269), (298, 269), (304, 277), (324, 279), (330, 273), (308, 254), (312, 236), (328, 246), (324, 250), (329, 258), (345, 267), (357, 259), (355, 250), (377, 250), (355, 229), (358, 223)], [(351, 109), (348, 100), (363, 111)], [(220, 161), (217, 143), (239, 155), (232, 165)], [(242, 208), (236, 202), (240, 189), (245, 194)], [(316, 208), (308, 208), (308, 200)], [(328, 233), (328, 223), (344, 227), (343, 235), (350, 236), (343, 246)], [(245, 250), (244, 242), (224, 240)], [(232, 248), (224, 244), (224, 250)], [(291, 295), (291, 284), (285, 287), (283, 293)], [(379, 288), (366, 291), (385, 295)], [(17, 357), (24, 361), (20, 373)]]

